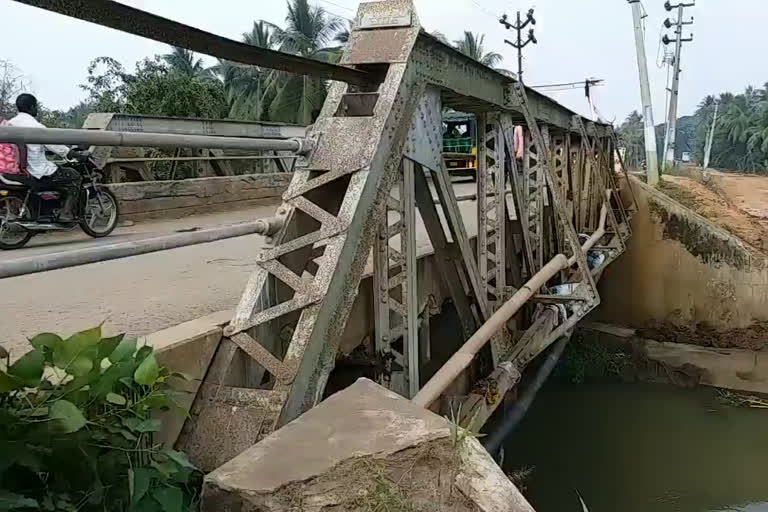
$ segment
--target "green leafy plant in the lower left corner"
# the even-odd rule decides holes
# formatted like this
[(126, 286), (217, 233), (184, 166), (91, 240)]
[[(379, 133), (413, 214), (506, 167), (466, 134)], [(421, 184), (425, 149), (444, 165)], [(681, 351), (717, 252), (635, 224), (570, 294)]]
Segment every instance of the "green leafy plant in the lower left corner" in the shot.
[(200, 473), (155, 444), (157, 413), (181, 409), (152, 347), (101, 326), (44, 333), (13, 364), (0, 357), (0, 510), (177, 512)]

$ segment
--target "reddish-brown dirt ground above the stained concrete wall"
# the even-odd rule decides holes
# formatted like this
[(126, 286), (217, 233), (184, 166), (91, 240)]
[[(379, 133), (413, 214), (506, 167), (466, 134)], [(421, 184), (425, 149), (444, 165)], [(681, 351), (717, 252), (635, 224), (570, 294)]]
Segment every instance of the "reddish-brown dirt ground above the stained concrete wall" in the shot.
[(768, 254), (768, 177), (711, 172), (702, 180), (664, 176), (661, 190)]

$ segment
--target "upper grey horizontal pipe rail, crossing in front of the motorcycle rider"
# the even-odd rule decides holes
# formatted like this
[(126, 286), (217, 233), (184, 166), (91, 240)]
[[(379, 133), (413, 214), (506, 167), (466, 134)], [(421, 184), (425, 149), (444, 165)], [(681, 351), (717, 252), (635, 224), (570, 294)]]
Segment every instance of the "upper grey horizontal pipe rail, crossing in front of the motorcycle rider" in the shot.
[(133, 133), (64, 128), (20, 128), (0, 126), (0, 142), (16, 144), (66, 144), (89, 146), (130, 146), (156, 148), (249, 149), (252, 151), (303, 150), (300, 139), (247, 139), (208, 135), (176, 135), (170, 133)]

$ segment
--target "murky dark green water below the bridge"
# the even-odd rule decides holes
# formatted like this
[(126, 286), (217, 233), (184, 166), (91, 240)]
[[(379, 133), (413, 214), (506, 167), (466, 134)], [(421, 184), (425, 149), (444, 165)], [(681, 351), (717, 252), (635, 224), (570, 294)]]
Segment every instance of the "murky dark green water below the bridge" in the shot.
[(505, 452), (537, 512), (768, 512), (768, 410), (709, 389), (553, 385)]

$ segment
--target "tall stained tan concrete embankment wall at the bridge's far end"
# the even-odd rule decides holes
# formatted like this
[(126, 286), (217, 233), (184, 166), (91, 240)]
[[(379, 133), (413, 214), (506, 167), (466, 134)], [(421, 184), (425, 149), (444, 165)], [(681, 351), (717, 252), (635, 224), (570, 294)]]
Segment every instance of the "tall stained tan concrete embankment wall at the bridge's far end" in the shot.
[(600, 281), (593, 317), (651, 336), (761, 348), (768, 333), (768, 259), (661, 192), (632, 179), (640, 211), (627, 252)]

